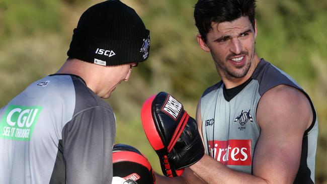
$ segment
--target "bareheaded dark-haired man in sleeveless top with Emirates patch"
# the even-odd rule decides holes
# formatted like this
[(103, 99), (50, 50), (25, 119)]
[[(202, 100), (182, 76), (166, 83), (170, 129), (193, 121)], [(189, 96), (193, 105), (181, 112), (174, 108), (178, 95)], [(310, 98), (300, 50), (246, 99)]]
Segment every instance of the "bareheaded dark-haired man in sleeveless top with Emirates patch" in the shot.
[(256, 54), (255, 3), (196, 4), (198, 43), (221, 77), (197, 106), (206, 154), (157, 183), (314, 183), (316, 112), (289, 75)]

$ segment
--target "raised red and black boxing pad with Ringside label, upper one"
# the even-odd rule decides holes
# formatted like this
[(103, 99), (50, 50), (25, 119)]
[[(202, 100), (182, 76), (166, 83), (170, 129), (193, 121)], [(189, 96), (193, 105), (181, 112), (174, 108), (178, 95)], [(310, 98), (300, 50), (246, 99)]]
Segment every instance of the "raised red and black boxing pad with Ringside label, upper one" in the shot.
[(182, 175), (185, 167), (204, 155), (196, 121), (170, 94), (160, 92), (148, 98), (142, 106), (141, 120), (166, 176)]

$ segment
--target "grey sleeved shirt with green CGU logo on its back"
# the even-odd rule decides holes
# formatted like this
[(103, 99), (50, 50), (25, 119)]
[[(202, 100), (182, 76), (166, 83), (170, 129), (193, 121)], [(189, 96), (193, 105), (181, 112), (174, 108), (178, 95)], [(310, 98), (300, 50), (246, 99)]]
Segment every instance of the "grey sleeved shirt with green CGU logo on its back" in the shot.
[(111, 183), (115, 132), (83, 79), (46, 76), (0, 110), (0, 183)]

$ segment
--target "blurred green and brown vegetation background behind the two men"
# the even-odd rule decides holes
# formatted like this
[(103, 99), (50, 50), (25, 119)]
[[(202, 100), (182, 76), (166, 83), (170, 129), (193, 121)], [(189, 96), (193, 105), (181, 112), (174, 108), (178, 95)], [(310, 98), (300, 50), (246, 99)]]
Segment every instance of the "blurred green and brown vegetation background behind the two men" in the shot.
[[(0, 107), (32, 81), (64, 63), (72, 30), (91, 0), (0, 0)], [(116, 143), (143, 152), (161, 173), (140, 121), (146, 98), (167, 91), (195, 117), (203, 90), (220, 80), (210, 54), (197, 45), (196, 0), (122, 0), (151, 35), (149, 59), (107, 100), (116, 113)], [(316, 183), (327, 183), (327, 1), (259, 0), (257, 52), (289, 73), (310, 95), (319, 120)]]

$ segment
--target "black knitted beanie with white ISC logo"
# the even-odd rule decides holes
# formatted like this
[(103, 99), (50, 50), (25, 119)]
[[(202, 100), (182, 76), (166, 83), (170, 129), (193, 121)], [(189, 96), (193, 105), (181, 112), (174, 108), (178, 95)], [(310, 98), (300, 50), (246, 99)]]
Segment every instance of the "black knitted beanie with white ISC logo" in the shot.
[(149, 49), (149, 30), (136, 12), (118, 0), (108, 0), (81, 15), (67, 55), (112, 66), (144, 61)]

